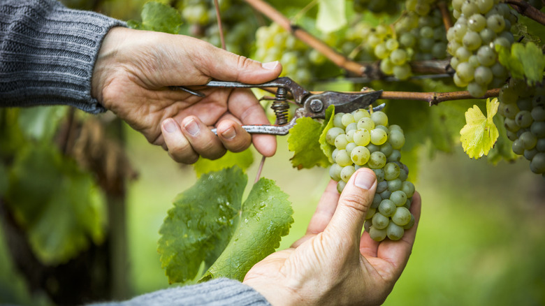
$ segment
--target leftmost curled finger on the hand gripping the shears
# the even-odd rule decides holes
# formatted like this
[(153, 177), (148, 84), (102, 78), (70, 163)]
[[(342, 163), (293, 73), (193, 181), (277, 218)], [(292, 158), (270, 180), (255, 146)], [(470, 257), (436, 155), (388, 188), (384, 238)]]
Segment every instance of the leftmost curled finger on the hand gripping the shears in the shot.
[(161, 133), (168, 155), (178, 163), (194, 163), (198, 154), (191, 148), (189, 140), (182, 133), (180, 125), (172, 118), (161, 123)]

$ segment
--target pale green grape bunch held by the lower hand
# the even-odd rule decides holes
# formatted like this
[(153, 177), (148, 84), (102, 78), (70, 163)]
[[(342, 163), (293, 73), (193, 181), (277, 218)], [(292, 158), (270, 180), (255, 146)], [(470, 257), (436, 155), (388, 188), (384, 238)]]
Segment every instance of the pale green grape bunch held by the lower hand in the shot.
[(358, 168), (371, 168), (377, 176), (377, 191), (365, 217), (365, 231), (373, 240), (400, 240), (414, 224), (409, 212), (414, 184), (407, 181), (409, 170), (400, 163), (400, 149), (405, 135), (400, 126), (388, 126), (384, 112), (359, 109), (339, 112), (333, 117), (333, 127), (326, 132), (326, 141), (335, 146), (329, 169), (341, 192)]

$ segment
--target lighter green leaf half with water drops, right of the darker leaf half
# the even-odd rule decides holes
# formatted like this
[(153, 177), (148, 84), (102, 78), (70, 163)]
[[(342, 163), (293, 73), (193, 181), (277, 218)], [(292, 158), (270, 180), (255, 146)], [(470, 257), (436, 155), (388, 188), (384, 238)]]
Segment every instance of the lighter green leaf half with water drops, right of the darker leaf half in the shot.
[(279, 247), (293, 223), (292, 214), (288, 195), (272, 180), (261, 178), (242, 205), (233, 238), (201, 281), (227, 277), (242, 282), (253, 265)]

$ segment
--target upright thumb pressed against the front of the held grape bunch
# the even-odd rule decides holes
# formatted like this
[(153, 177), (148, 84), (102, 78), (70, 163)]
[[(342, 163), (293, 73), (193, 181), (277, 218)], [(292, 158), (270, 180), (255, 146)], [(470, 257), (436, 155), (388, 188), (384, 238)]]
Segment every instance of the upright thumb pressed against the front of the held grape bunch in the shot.
[(365, 215), (375, 197), (376, 189), (377, 178), (373, 170), (358, 169), (342, 190), (328, 228), (333, 229), (337, 237), (354, 238), (359, 241)]

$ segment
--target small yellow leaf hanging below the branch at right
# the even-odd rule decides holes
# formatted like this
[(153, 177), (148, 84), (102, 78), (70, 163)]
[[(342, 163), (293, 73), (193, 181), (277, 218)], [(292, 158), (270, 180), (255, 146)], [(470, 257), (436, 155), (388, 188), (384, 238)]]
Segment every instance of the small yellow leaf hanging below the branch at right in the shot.
[(493, 122), (493, 117), (496, 115), (499, 105), (496, 98), (492, 101), (486, 100), (487, 117), (484, 117), (477, 105), (465, 112), (467, 123), (460, 130), (460, 141), (470, 158), (479, 159), (481, 156), (487, 155), (496, 142), (499, 133)]

